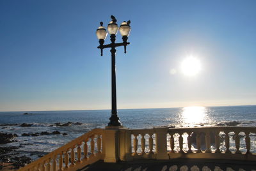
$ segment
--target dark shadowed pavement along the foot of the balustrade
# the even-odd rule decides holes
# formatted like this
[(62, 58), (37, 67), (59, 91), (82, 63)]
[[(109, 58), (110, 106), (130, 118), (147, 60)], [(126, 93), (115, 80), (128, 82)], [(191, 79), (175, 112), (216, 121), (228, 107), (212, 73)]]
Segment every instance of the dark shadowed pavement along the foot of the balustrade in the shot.
[(95, 170), (147, 170), (147, 171), (233, 171), (233, 170), (250, 170), (256, 168), (256, 164), (248, 161), (230, 162), (230, 160), (198, 160), (198, 159), (173, 159), (173, 160), (134, 160), (120, 161), (118, 163), (104, 163), (100, 160), (92, 165), (88, 165), (79, 171), (95, 171)]

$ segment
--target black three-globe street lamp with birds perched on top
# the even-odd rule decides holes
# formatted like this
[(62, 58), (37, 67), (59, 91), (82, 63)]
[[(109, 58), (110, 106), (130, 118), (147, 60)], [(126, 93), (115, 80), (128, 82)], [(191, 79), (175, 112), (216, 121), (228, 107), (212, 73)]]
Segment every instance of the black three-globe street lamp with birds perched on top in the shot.
[(108, 33), (110, 34), (111, 43), (108, 45), (104, 45), (104, 40), (108, 35), (105, 27), (103, 27), (103, 22), (100, 22), (100, 27), (97, 29), (96, 34), (97, 38), (99, 39), (99, 47), (100, 48), (100, 56), (103, 54), (104, 48), (111, 48), (111, 85), (112, 85), (112, 110), (111, 110), (111, 117), (109, 118), (110, 122), (108, 126), (121, 126), (122, 124), (119, 121), (119, 117), (117, 115), (116, 110), (116, 47), (124, 46), (124, 52), (126, 53), (126, 46), (130, 43), (127, 42), (129, 33), (131, 31), (130, 23), (131, 21), (122, 22), (121, 26), (119, 27), (120, 34), (122, 35), (123, 43), (115, 43), (116, 40), (116, 33), (118, 32), (118, 26), (116, 24), (116, 18), (111, 15), (111, 22), (108, 24)]

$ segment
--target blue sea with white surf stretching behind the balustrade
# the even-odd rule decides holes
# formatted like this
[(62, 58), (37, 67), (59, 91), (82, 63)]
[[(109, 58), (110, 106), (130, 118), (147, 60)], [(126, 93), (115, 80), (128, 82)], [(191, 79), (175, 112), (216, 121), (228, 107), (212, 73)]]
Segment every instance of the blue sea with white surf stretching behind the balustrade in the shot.
[[(25, 115), (27, 112), (29, 114)], [(36, 160), (48, 152), (67, 144), (93, 128), (104, 128), (109, 123), (111, 110), (70, 110), (70, 111), (22, 111), (0, 112), (0, 132), (16, 133), (16, 142), (0, 144), (0, 147), (19, 146), (16, 154)], [(124, 127), (153, 128), (157, 126), (256, 126), (256, 105), (228, 107), (182, 107), (182, 108), (141, 108), (120, 109), (118, 117)], [(60, 126), (68, 123), (67, 126)], [(22, 127), (20, 124), (32, 124)], [(58, 124), (56, 124), (58, 123)], [(60, 134), (22, 136), (23, 133), (59, 131)], [(63, 135), (67, 133), (67, 135)], [(243, 137), (243, 136), (242, 136)], [(251, 137), (251, 149), (256, 153), (255, 134)], [(244, 138), (244, 137), (243, 137)], [(232, 136), (230, 137), (232, 141)], [(230, 142), (230, 149), (235, 151)], [(241, 151), (246, 151), (241, 140)]]

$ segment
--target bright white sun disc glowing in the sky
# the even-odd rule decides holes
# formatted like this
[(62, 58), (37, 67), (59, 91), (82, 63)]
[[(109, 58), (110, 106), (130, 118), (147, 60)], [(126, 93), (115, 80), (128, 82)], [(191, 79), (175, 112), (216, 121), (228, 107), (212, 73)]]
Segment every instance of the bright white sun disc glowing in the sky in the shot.
[(181, 70), (184, 75), (195, 76), (201, 70), (201, 63), (196, 57), (186, 57), (181, 63)]

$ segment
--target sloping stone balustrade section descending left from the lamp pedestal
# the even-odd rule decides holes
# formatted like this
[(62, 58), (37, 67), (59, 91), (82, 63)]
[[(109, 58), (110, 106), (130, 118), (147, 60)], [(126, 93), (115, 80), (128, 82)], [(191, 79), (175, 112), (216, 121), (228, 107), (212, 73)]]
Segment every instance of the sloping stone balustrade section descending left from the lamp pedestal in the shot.
[(77, 170), (102, 159), (104, 130), (94, 129), (42, 158), (20, 168), (20, 171)]

